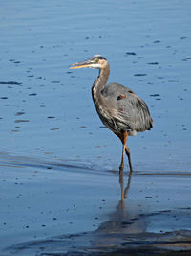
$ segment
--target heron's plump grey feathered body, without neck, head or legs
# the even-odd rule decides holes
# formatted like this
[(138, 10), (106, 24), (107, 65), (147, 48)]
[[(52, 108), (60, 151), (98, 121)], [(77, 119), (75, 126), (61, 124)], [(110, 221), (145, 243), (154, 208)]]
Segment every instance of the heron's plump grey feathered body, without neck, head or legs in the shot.
[[(137, 132), (152, 128), (147, 105), (131, 89), (121, 84), (109, 83), (100, 92), (98, 100), (94, 98), (94, 101), (101, 121), (113, 132), (127, 130), (130, 136), (135, 136)], [(97, 104), (98, 101), (101, 105)]]

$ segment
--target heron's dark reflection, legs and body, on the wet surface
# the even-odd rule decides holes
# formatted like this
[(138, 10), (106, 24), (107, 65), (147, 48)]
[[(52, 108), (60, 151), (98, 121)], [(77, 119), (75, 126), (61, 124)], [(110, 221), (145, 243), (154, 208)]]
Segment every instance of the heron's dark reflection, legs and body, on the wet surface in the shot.
[[(128, 179), (125, 173), (119, 172), (119, 184), (121, 188), (121, 199), (118, 201), (116, 209), (109, 215), (109, 220), (100, 224), (96, 230), (93, 247), (113, 248), (120, 246), (126, 236), (145, 232), (145, 221), (139, 218), (141, 209), (138, 203), (128, 197), (132, 172)], [(125, 237), (124, 237), (125, 236)]]

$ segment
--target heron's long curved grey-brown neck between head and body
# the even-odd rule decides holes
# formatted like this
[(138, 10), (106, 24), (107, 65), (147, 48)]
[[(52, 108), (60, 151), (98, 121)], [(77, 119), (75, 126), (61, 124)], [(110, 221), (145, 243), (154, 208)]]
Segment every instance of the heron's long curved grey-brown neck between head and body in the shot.
[(104, 68), (99, 69), (99, 75), (92, 87), (92, 95), (93, 95), (93, 100), (94, 100), (95, 105), (96, 105), (96, 101), (101, 96), (101, 91), (105, 87), (105, 84), (108, 81), (109, 75), (110, 75), (109, 64), (107, 64)]

